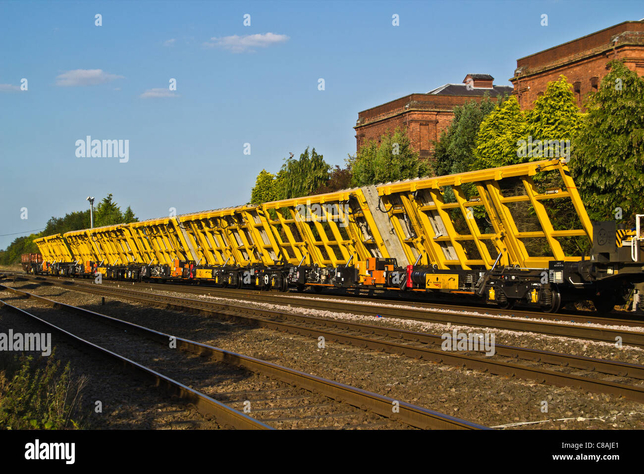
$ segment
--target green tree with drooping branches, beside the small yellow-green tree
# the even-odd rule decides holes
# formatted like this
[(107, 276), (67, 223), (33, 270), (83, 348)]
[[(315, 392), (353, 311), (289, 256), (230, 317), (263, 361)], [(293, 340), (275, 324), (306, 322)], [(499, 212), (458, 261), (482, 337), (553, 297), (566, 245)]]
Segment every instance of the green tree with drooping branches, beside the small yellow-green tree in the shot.
[(309, 147), (299, 155), (286, 158), (276, 177), (275, 187), (278, 199), (290, 199), (312, 194), (319, 186), (327, 183), (331, 166), (324, 161), (323, 155), (318, 155)]

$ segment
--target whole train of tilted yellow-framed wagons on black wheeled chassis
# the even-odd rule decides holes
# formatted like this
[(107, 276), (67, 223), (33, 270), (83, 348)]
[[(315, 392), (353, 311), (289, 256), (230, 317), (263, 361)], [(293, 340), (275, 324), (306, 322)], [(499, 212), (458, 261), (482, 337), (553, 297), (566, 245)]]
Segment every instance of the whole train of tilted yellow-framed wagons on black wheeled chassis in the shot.
[(553, 159), (50, 235), (28, 271), (607, 311), (644, 282), (643, 217), (591, 222)]

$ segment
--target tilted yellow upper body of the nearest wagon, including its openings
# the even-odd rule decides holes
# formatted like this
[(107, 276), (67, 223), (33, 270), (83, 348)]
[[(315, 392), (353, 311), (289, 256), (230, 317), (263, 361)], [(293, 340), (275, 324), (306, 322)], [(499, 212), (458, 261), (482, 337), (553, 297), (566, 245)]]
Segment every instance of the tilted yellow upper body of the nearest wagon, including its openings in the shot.
[[(439, 269), (500, 264), (547, 268), (580, 261), (592, 224), (559, 160), (515, 164), (377, 186), (401, 244), (399, 261)], [(569, 220), (556, 213), (569, 214)], [(560, 216), (561, 217), (561, 216)], [(573, 239), (573, 240), (571, 240)], [(585, 242), (583, 242), (585, 241)]]

